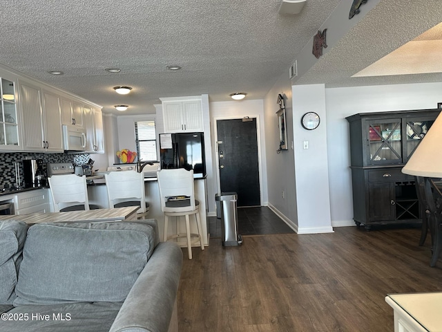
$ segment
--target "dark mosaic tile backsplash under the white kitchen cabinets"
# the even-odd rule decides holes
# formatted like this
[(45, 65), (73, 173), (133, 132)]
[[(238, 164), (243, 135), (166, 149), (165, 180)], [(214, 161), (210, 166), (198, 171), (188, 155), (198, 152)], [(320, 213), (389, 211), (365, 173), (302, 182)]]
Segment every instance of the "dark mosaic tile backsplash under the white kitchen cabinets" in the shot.
[(74, 163), (75, 159), (88, 159), (88, 154), (39, 154), (32, 152), (0, 153), (0, 186), (15, 185), (15, 163), (20, 162), (20, 177), (23, 180), (23, 159), (43, 159), (44, 163)]

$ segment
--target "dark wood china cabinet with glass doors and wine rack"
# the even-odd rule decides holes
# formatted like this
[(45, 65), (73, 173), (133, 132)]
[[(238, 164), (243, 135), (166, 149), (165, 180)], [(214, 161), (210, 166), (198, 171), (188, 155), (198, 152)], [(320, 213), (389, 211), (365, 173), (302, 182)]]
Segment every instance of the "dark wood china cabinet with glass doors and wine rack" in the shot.
[(414, 176), (401, 169), (441, 109), (358, 113), (347, 117), (356, 225), (422, 222)]

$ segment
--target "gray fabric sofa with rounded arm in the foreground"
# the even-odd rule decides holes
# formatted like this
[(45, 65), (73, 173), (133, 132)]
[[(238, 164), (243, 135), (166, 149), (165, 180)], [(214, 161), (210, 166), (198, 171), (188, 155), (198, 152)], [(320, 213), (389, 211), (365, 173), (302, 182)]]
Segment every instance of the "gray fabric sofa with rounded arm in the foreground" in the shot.
[(153, 219), (0, 221), (0, 331), (177, 331), (181, 267)]

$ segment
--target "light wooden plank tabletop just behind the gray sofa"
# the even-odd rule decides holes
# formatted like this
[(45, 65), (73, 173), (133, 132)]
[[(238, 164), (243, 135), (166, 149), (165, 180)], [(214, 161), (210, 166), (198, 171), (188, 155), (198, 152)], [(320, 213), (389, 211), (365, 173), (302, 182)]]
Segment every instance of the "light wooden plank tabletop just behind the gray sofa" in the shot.
[(130, 221), (137, 219), (136, 214), (138, 209), (137, 206), (129, 206), (126, 208), (96, 209), (87, 211), (13, 214), (0, 216), (0, 220), (21, 220), (28, 224), (64, 221)]

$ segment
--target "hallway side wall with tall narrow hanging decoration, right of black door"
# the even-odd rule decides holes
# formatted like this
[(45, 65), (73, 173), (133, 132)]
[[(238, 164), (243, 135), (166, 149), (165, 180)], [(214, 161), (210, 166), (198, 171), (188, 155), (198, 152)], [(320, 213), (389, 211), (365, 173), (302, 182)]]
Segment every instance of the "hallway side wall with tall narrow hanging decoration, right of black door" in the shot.
[[(279, 110), (276, 101), (278, 94), (285, 100), (286, 131), (288, 150), (279, 154), (279, 129), (276, 112)], [(293, 108), (291, 100), (291, 83), (287, 74), (272, 87), (264, 99), (264, 127), (266, 137), (268, 205), (294, 230), (298, 229), (298, 211), (295, 190), (295, 165), (293, 138)]]

